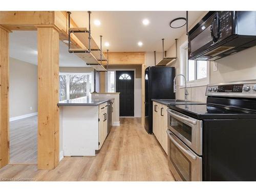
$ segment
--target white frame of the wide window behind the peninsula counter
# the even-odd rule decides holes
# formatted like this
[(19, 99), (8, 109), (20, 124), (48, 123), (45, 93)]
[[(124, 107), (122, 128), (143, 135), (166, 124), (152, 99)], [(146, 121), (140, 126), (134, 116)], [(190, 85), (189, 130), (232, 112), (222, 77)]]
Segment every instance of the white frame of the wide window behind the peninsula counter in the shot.
[[(94, 84), (94, 73), (91, 72), (91, 71), (86, 71), (86, 72), (59, 72), (59, 75), (68, 75), (67, 76), (67, 93), (70, 93), (70, 90), (69, 90), (70, 89), (69, 75), (84, 75), (84, 74), (89, 74), (89, 73), (92, 75), (92, 88), (91, 88), (91, 90), (92, 90), (92, 92), (94, 92), (94, 86), (93, 86), (93, 84)], [(89, 81), (87, 82), (87, 85), (88, 84), (90, 85)], [(59, 87), (59, 89), (60, 89), (60, 87)], [(87, 93), (91, 94), (90, 93), (90, 86), (87, 86)], [(66, 99), (67, 100), (70, 99), (70, 94), (67, 94), (67, 98)]]

